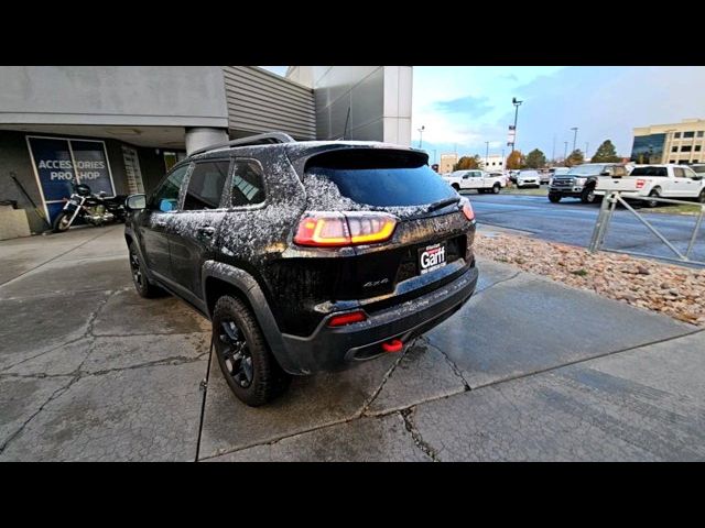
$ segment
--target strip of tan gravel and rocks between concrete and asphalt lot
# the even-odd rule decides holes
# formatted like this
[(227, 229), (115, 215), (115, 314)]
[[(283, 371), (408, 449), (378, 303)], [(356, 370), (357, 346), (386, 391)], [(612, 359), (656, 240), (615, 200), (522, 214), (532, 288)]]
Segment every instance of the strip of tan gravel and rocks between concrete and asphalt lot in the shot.
[(506, 233), (478, 233), (476, 253), (611, 299), (705, 326), (705, 270)]

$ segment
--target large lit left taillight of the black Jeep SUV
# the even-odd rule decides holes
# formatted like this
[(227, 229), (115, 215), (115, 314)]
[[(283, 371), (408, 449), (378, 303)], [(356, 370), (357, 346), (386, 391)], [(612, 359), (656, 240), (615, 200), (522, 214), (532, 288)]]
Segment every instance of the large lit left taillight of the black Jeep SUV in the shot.
[(392, 237), (397, 217), (384, 212), (306, 212), (299, 222), (299, 245), (373, 244)]

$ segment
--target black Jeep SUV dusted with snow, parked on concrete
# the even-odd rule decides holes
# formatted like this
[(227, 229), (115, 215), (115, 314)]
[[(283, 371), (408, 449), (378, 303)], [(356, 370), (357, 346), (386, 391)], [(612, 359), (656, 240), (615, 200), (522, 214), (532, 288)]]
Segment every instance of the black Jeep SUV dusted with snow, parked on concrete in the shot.
[(400, 352), (477, 283), (473, 209), (427, 161), (281, 133), (197, 151), (126, 201), (134, 286), (212, 320), (220, 369), (252, 406), (290, 374)]

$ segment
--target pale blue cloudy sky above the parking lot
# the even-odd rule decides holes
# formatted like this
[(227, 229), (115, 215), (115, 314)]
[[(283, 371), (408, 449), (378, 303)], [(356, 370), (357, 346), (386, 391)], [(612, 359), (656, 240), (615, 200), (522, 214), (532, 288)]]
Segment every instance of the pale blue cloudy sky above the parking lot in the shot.
[[(283, 75), (285, 66), (267, 66)], [(576, 147), (588, 156), (606, 139), (628, 156), (634, 127), (705, 119), (702, 66), (415, 66), (412, 146), (432, 160), (442, 153), (508, 154), (512, 97), (519, 107), (517, 148), (562, 157)], [(435, 153), (433, 152), (435, 151)]]

